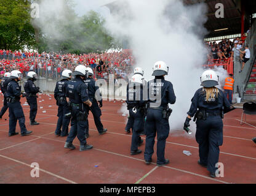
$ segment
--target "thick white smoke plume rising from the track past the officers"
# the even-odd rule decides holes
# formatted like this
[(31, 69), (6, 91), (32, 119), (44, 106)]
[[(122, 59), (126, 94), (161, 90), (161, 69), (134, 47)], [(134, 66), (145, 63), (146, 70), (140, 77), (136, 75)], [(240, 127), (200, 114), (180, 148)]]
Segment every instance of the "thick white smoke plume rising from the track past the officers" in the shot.
[[(169, 80), (174, 85), (177, 101), (170, 105), (170, 132), (180, 135), (186, 112), (196, 89), (200, 88), (202, 64), (207, 50), (202, 42), (206, 33), (203, 24), (207, 18), (204, 4), (184, 6), (182, 1), (118, 1), (118, 9), (107, 18), (106, 28), (116, 37), (128, 39), (137, 59), (136, 66), (142, 67), (146, 80), (150, 80), (156, 61), (169, 65)], [(195, 125), (191, 123), (195, 132)]]

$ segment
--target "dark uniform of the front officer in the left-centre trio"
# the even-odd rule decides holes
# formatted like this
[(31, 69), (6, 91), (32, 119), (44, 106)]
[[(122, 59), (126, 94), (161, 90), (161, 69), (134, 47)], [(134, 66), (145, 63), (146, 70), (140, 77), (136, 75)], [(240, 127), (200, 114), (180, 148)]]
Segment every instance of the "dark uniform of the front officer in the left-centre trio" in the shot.
[(87, 105), (84, 104), (89, 100), (87, 94), (87, 85), (80, 77), (76, 77), (68, 81), (66, 86), (66, 97), (70, 99), (71, 108), (71, 129), (66, 143), (72, 143), (76, 135), (80, 141), (80, 146), (86, 146), (86, 119), (87, 119)]

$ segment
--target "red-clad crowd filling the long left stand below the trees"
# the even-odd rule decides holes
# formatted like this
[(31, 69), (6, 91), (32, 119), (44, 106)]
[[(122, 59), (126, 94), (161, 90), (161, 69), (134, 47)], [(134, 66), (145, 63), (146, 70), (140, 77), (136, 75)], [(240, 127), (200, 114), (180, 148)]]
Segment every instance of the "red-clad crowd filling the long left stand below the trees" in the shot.
[(33, 70), (40, 76), (47, 75), (47, 77), (58, 79), (64, 69), (73, 71), (78, 64), (94, 69), (95, 78), (108, 80), (108, 75), (114, 74), (115, 79), (127, 80), (127, 75), (132, 73), (135, 59), (130, 50), (83, 55), (0, 50), (1, 76), (4, 72), (17, 69), (24, 76)]

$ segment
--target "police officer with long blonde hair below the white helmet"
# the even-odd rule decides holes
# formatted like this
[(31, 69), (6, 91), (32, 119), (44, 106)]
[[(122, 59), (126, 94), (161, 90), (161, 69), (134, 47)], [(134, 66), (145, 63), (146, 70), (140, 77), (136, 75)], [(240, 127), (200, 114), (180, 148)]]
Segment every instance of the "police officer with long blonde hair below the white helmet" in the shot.
[(196, 141), (199, 144), (198, 164), (207, 167), (210, 176), (215, 178), (218, 156), (223, 143), (223, 108), (231, 110), (230, 102), (222, 90), (216, 88), (218, 75), (213, 70), (206, 70), (201, 76), (201, 86), (191, 99), (191, 107), (184, 123), (184, 129), (190, 126), (195, 115)]

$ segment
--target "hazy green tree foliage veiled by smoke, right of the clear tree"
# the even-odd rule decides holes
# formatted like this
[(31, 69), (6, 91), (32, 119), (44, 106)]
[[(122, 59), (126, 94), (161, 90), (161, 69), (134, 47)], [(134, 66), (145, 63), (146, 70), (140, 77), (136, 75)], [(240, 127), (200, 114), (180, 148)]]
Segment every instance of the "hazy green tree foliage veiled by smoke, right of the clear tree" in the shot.
[[(72, 13), (72, 12), (69, 12)], [(103, 27), (105, 20), (94, 11), (83, 17), (72, 15), (68, 22), (58, 21), (56, 29), (61, 36), (41, 32), (39, 51), (62, 51), (63, 53), (90, 53), (116, 47), (113, 37)]]

